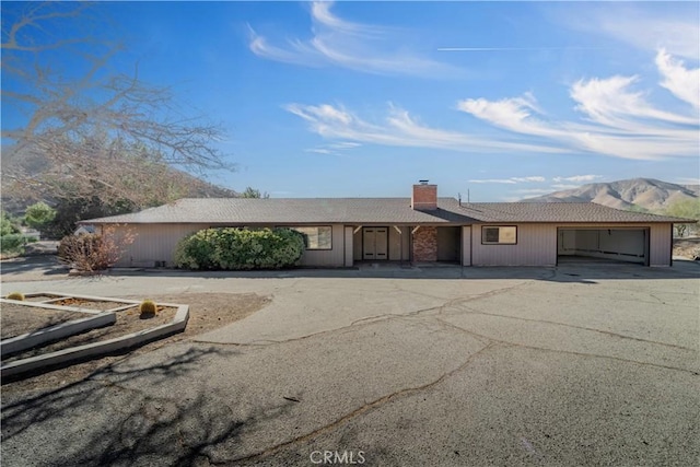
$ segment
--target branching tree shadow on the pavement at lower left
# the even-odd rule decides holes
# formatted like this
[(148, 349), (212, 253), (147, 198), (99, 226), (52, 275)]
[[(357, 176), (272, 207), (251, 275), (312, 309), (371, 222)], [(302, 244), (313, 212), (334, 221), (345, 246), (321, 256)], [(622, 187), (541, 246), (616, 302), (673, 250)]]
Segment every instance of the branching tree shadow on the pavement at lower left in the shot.
[(191, 374), (211, 364), (205, 358), (236, 353), (188, 347), (158, 364), (121, 362), (58, 389), (11, 395), (14, 400), (3, 400), (2, 407), (3, 460), (195, 466), (241, 456), (242, 431), (283, 416), (290, 404), (241, 408), (232, 394), (208, 389), (201, 376)]

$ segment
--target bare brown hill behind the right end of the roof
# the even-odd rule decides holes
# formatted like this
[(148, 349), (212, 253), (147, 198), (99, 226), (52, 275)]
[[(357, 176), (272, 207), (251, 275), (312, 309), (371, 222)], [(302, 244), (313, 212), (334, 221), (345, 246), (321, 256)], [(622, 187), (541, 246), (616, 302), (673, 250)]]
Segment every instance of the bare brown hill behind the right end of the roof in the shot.
[(610, 183), (588, 184), (579, 188), (527, 198), (528, 202), (595, 202), (617, 209), (644, 208), (663, 211), (675, 201), (698, 199), (700, 185), (676, 185), (653, 178), (632, 178)]

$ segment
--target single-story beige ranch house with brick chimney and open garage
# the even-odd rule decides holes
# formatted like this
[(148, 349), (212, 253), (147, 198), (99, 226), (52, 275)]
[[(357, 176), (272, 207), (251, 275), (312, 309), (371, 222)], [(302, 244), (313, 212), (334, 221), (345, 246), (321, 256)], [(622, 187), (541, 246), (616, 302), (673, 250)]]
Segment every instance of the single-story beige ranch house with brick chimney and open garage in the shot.
[(202, 229), (285, 226), (306, 235), (302, 265), (361, 261), (462, 266), (556, 266), (591, 257), (670, 266), (673, 224), (687, 219), (588, 202), (479, 202), (439, 198), (413, 185), (411, 198), (180, 199), (141, 212), (82, 221), (118, 224), (136, 241), (117, 266), (172, 266), (180, 238)]

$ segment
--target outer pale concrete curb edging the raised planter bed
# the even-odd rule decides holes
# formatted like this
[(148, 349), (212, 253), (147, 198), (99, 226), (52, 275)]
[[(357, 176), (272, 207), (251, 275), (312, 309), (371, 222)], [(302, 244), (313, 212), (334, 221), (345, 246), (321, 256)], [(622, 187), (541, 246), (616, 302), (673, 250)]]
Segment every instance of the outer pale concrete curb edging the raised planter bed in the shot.
[[(37, 293), (36, 295), (61, 295), (65, 297), (89, 299), (89, 300), (96, 300), (102, 302), (118, 302), (118, 303), (132, 303), (132, 304), (141, 303), (140, 301), (135, 301), (135, 300), (118, 300), (118, 299), (92, 296), (92, 295), (60, 294), (60, 293), (54, 293), (54, 292)], [(20, 303), (26, 304), (27, 302), (20, 302)], [(8, 377), (8, 376), (14, 376), (14, 375), (27, 373), (27, 372), (47, 367), (47, 366), (67, 365), (68, 363), (74, 362), (77, 360), (86, 360), (86, 359), (104, 355), (107, 353), (117, 352), (131, 347), (144, 345), (147, 342), (168, 336), (171, 334), (180, 332), (185, 330), (185, 327), (187, 326), (187, 320), (189, 319), (189, 305), (180, 305), (180, 304), (173, 304), (173, 303), (159, 303), (159, 305), (177, 307), (175, 317), (171, 323), (166, 323), (164, 325), (156, 326), (151, 329), (143, 329), (138, 332), (132, 332), (126, 336), (105, 340), (102, 342), (88, 343), (84, 346), (72, 347), (70, 349), (63, 349), (63, 350), (47, 353), (44, 355), (37, 355), (37, 357), (31, 357), (27, 359), (18, 360), (18, 361), (8, 363), (7, 365), (2, 365), (0, 367), (0, 376)], [(128, 306), (128, 307), (131, 307), (131, 306)], [(66, 307), (61, 310), (65, 310), (65, 308)], [(118, 308), (124, 308), (124, 306)], [(108, 312), (100, 312), (100, 313), (110, 313), (116, 319), (114, 310)]]

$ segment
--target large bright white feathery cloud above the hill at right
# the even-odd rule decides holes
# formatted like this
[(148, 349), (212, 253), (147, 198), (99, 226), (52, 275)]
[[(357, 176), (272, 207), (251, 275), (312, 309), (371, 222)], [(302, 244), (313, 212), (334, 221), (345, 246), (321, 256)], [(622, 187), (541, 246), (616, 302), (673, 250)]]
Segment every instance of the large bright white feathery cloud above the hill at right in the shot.
[[(688, 70), (664, 50), (656, 56), (664, 81), (662, 86), (698, 108), (698, 93), (690, 82), (700, 71)], [(501, 101), (467, 98), (457, 108), (495, 127), (544, 139), (572, 151), (606, 154), (633, 160), (695, 156), (699, 148), (700, 121), (697, 110), (672, 113), (645, 100), (634, 85), (638, 77), (592, 78), (575, 82), (570, 96), (582, 121), (545, 118), (534, 95)], [(695, 94), (693, 94), (695, 92)]]

